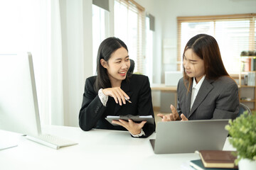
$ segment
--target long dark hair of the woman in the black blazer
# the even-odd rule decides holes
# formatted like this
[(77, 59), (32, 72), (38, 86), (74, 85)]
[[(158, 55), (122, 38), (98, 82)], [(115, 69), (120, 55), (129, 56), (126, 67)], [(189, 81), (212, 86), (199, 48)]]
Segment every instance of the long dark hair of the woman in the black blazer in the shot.
[[(101, 42), (99, 50), (97, 52), (97, 77), (94, 86), (96, 92), (100, 89), (111, 87), (110, 78), (107, 75), (107, 69), (102, 67), (102, 64), (100, 64), (100, 60), (103, 59), (108, 62), (112, 53), (120, 47), (124, 47), (128, 52), (127, 45), (125, 45), (124, 42), (119, 38), (110, 37)], [(129, 77), (128, 74), (129, 72), (127, 72), (127, 77)]]

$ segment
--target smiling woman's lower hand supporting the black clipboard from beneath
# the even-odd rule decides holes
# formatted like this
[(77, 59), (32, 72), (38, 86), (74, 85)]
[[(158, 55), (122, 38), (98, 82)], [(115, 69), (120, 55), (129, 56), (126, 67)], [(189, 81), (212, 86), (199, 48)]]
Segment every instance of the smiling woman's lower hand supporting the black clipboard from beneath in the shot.
[(142, 121), (141, 123), (134, 123), (132, 119), (129, 119), (128, 122), (126, 120), (112, 120), (112, 123), (117, 125), (122, 125), (122, 127), (126, 128), (132, 135), (138, 135), (143, 126), (145, 125), (146, 121)]

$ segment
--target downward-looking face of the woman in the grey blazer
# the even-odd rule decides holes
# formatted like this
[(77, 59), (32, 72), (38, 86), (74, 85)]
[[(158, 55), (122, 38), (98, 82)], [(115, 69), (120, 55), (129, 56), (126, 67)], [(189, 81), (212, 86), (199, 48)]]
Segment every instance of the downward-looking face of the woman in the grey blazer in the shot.
[(183, 67), (188, 77), (195, 77), (197, 83), (205, 74), (203, 60), (191, 49), (184, 53)]

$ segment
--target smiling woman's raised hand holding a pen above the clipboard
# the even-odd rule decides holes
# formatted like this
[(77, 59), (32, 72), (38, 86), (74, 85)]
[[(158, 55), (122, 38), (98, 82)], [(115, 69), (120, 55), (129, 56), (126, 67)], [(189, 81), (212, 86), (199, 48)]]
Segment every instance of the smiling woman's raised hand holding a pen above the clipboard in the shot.
[(124, 97), (129, 100), (129, 96), (124, 93), (124, 91), (120, 87), (102, 89), (102, 93), (106, 96), (111, 96), (112, 98), (114, 98), (114, 101), (116, 103), (119, 103), (120, 106), (122, 106), (122, 103), (126, 104)]

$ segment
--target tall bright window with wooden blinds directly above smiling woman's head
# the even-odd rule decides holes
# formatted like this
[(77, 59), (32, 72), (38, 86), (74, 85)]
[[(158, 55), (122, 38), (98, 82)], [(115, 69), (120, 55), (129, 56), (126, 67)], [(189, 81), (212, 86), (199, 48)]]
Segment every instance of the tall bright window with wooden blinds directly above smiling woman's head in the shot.
[(134, 72), (144, 74), (144, 8), (132, 0), (114, 1), (114, 36), (124, 41)]

